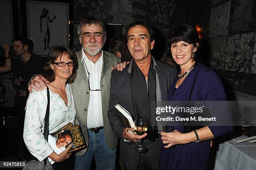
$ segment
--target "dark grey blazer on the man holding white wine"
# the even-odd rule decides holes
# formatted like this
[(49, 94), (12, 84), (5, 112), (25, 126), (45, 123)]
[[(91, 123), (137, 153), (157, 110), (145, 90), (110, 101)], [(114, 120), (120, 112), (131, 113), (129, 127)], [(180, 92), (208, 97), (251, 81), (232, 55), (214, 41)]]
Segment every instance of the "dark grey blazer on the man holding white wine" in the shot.
[[(177, 70), (176, 68), (160, 61), (156, 60), (156, 63), (160, 68), (158, 69), (156, 67), (159, 77), (161, 100), (166, 101), (167, 92), (174, 80)], [(127, 68), (128, 65), (125, 67), (123, 72), (114, 70), (111, 74), (108, 119), (115, 134), (120, 138), (120, 159), (122, 163), (125, 167), (136, 169), (139, 163), (138, 158), (140, 158), (140, 153), (138, 153), (134, 148), (136, 144), (125, 143), (123, 141), (123, 130), (126, 127), (123, 127), (120, 117), (118, 117), (115, 109), (115, 105), (120, 104), (128, 110), (133, 117), (135, 116), (131, 96), (130, 75)]]

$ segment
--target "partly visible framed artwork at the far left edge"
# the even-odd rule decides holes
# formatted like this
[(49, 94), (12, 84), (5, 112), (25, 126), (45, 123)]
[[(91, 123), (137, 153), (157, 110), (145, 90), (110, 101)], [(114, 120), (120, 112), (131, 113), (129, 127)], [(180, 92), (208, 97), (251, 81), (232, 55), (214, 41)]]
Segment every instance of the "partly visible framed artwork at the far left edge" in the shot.
[(12, 44), (14, 37), (12, 1), (0, 0), (0, 4), (0, 45)]

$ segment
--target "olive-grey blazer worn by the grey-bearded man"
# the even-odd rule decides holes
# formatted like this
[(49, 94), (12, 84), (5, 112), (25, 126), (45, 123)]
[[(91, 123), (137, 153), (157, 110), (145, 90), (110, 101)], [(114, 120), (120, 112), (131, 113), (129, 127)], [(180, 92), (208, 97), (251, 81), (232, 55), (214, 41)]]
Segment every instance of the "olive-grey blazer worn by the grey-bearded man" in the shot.
[[(82, 50), (75, 52), (77, 55), (77, 60), (81, 63), (82, 60)], [(102, 100), (102, 114), (103, 114), (103, 124), (105, 131), (105, 138), (108, 148), (113, 149), (118, 144), (118, 137), (114, 134), (111, 129), (110, 123), (108, 121), (108, 102), (110, 97), (110, 76), (111, 67), (115, 66), (117, 62), (120, 62), (120, 58), (113, 55), (110, 52), (103, 51), (103, 65), (100, 78), (100, 92)], [(87, 130), (87, 109), (90, 100), (90, 90), (88, 86), (88, 78), (86, 75), (86, 70), (83, 64), (80, 64), (77, 70), (77, 77), (74, 83), (70, 84), (72, 88), (72, 94), (74, 97), (74, 102), (76, 105), (77, 115), (75, 123), (79, 124), (82, 129), (85, 142), (89, 144), (88, 130)], [(81, 150), (77, 155), (84, 155), (87, 149)]]

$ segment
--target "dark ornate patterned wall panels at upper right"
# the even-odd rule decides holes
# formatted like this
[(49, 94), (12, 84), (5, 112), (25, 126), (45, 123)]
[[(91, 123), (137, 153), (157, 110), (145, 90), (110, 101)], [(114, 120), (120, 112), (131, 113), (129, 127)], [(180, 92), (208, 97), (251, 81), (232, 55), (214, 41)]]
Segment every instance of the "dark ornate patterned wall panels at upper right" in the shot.
[(253, 0), (212, 0), (210, 66), (225, 87), (256, 95), (256, 37)]

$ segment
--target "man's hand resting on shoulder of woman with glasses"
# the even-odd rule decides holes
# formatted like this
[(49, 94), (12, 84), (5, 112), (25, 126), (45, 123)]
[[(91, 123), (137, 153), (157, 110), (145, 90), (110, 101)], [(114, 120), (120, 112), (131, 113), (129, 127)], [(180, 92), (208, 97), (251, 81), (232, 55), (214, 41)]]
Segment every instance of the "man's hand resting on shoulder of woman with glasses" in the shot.
[(48, 84), (50, 82), (44, 76), (36, 75), (30, 82), (28, 82), (28, 91), (32, 93), (32, 88), (37, 92), (39, 90), (44, 90), (44, 88), (47, 88), (46, 83)]

